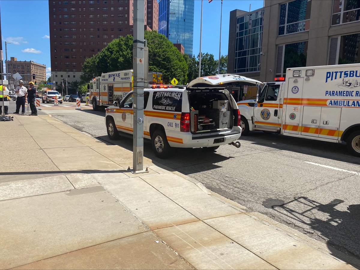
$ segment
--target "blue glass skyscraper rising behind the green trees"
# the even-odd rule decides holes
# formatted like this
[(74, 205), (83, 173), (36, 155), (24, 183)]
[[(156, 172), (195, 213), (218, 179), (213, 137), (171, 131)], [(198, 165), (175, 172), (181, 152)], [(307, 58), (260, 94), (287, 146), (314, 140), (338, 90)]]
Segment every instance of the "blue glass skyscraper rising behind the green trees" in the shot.
[(173, 44), (183, 45), (185, 54), (192, 57), (194, 0), (160, 0), (159, 33)]

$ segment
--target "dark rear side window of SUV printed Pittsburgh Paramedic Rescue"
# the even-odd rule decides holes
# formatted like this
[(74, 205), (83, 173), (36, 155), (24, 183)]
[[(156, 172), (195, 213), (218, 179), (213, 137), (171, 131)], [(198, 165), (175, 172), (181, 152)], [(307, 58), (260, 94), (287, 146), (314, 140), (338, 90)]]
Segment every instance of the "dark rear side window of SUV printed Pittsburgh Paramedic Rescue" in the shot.
[(182, 96), (183, 92), (154, 92), (153, 110), (181, 112)]

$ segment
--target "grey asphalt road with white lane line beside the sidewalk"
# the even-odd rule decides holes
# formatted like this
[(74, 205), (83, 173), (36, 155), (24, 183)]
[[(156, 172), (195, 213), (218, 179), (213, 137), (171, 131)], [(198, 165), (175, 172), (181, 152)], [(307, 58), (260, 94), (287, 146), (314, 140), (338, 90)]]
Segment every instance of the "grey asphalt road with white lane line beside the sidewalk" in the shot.
[[(39, 114), (51, 114), (79, 131), (132, 150), (132, 139), (107, 137), (104, 110), (96, 112), (91, 106), (75, 110), (74, 102), (63, 105), (68, 107), (43, 107)], [(250, 132), (240, 141), (240, 148), (225, 145), (210, 153), (174, 148), (167, 160), (158, 159), (145, 141), (144, 156), (198, 180), (249, 211), (327, 243), (330, 250), (360, 258), (360, 158), (348, 155), (345, 143), (263, 132)]]

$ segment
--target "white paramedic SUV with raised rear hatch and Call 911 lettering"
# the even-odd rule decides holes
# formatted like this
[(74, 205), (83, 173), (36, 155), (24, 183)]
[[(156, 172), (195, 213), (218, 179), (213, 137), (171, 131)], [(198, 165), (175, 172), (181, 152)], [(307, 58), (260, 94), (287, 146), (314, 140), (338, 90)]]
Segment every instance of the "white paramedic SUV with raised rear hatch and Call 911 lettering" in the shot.
[[(213, 151), (241, 135), (240, 115), (226, 87), (259, 85), (239, 75), (221, 74), (196, 78), (184, 87), (144, 89), (144, 138), (150, 139), (156, 156), (166, 158), (173, 147), (203, 147)], [(133, 92), (106, 110), (110, 139), (133, 134)]]

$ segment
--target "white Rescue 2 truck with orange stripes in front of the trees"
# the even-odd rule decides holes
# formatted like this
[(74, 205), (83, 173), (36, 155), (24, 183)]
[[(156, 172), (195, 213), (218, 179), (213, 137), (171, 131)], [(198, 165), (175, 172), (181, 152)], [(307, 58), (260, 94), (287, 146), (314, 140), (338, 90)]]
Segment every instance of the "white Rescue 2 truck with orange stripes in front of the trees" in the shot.
[(99, 107), (112, 106), (114, 101), (121, 101), (133, 88), (133, 70), (121, 70), (101, 74), (95, 77), (88, 85), (89, 102), (93, 110)]

